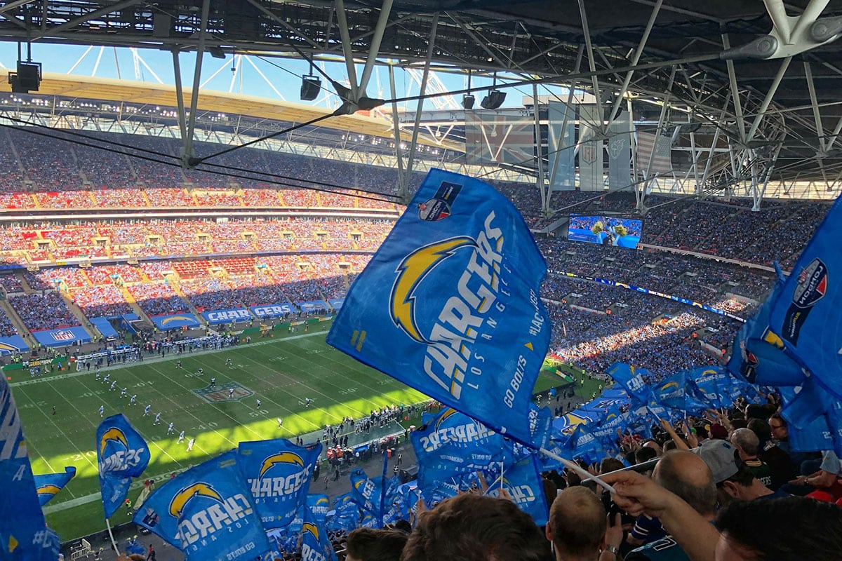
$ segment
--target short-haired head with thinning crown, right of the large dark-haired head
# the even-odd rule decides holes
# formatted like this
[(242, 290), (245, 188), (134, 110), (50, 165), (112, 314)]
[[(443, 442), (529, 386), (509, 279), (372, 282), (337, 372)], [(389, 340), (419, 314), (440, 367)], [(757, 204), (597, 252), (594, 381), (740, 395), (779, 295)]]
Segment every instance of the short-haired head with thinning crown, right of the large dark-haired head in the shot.
[(556, 558), (595, 559), (605, 546), (605, 506), (584, 487), (563, 490), (550, 507), (546, 539), (552, 542)]

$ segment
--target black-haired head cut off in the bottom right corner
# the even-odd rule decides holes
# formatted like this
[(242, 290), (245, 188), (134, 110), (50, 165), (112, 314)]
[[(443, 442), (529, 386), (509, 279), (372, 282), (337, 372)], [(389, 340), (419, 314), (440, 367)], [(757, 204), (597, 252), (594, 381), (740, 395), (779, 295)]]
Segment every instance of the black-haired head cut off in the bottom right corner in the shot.
[(736, 501), (719, 511), (716, 525), (717, 561), (836, 561), (842, 551), (842, 508), (818, 500)]

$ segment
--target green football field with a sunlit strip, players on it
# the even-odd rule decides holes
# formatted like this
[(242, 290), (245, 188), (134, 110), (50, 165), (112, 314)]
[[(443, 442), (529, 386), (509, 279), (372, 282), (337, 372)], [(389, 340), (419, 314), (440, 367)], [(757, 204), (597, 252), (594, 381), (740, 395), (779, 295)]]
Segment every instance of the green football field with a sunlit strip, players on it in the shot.
[[(318, 331), (258, 340), (248, 346), (104, 368), (100, 375), (110, 375), (108, 384), (95, 379), (93, 368), (89, 373), (71, 371), (35, 380), (29, 379), (28, 370), (11, 374), (35, 474), (63, 472), (71, 465), (77, 468), (76, 477), (45, 506), (47, 522), (63, 541), (104, 529), (94, 445), (100, 405), (105, 416), (124, 413), (149, 444), (152, 461), (129, 493), (135, 500), (142, 479), (167, 479), (173, 472), (237, 447), (237, 442), (291, 438), (313, 431), (321, 436), (326, 424), (338, 424), (345, 416), (356, 419), (384, 405), (427, 400), (424, 394), (328, 347), (324, 341), (328, 323), (315, 327)], [(227, 358), (232, 359), (230, 366)], [(204, 369), (201, 376), (196, 374), (199, 368)], [(210, 389), (211, 377), (216, 377), (216, 389)], [(109, 390), (111, 381), (117, 382), (115, 391)], [(559, 378), (542, 375), (536, 390), (558, 384)], [(123, 388), (127, 397), (121, 399)], [(234, 399), (228, 399), (229, 389), (234, 389)], [(131, 394), (137, 394), (137, 405), (129, 405)], [(310, 407), (304, 405), (305, 398), (312, 400)], [(144, 416), (147, 404), (152, 405), (151, 414)], [(155, 425), (158, 412), (161, 422)], [(282, 428), (278, 418), (283, 419)], [(168, 435), (170, 422), (173, 433)], [(185, 432), (181, 443), (180, 431)], [(188, 452), (191, 437), (195, 445)], [(111, 525), (129, 520), (126, 509), (120, 508)]]

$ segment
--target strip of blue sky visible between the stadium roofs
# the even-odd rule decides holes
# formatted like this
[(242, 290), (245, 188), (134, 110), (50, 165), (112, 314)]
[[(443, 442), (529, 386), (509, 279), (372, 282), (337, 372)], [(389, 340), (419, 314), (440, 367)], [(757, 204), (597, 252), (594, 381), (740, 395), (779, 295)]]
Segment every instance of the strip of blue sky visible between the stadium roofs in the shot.
[[(166, 84), (173, 84), (173, 57), (169, 52), (161, 50), (137, 50), (138, 60), (132, 55), (131, 50), (126, 48), (112, 47), (86, 47), (82, 45), (32, 45), (32, 60), (42, 63), (45, 72), (72, 73), (81, 76), (96, 76), (108, 78), (122, 78), (124, 80), (139, 79), (143, 82), (157, 83), (160, 80)], [(24, 47), (24, 58), (26, 50)], [(0, 63), (7, 68), (14, 68), (18, 58), (18, 46), (15, 43), (0, 43)], [(193, 69), (195, 53), (186, 53), (181, 56), (182, 80), (185, 86), (193, 83)], [(232, 71), (232, 66), (236, 71)], [(340, 83), (348, 82), (347, 70), (344, 63), (322, 62), (319, 63), (328, 76)], [(357, 66), (357, 76), (362, 74), (362, 65)], [(243, 93), (261, 98), (285, 99), (295, 103), (313, 103), (322, 107), (336, 107), (338, 98), (328, 96), (328, 90), (322, 90), (325, 95), (320, 95), (315, 102), (301, 102), (299, 99), (299, 88), (301, 87), (301, 75), (308, 73), (309, 64), (306, 61), (264, 58), (258, 56), (237, 57), (234, 64), (233, 57), (227, 56), (225, 60), (216, 59), (205, 53), (202, 65), (201, 82), (202, 87), (221, 92)], [(413, 76), (414, 75), (414, 76)], [(395, 82), (397, 97), (404, 97), (418, 94), (418, 80), (421, 77), (421, 69), (415, 72), (396, 69)], [(440, 82), (440, 87), (445, 91), (452, 91), (466, 87), (465, 77), (435, 73), (432, 82)], [(324, 87), (326, 82), (322, 82)], [(491, 86), (491, 81), (475, 77), (472, 86)], [(559, 93), (560, 89), (553, 87), (552, 91)], [(389, 74), (385, 66), (376, 66), (372, 73), (368, 93), (372, 97), (390, 98)], [(429, 93), (429, 90), (428, 90)], [(549, 90), (539, 87), (539, 95), (546, 95)], [(504, 107), (523, 107), (522, 98), (532, 94), (532, 87), (518, 87), (508, 90), (508, 96)], [(482, 93), (477, 93), (477, 107)], [(461, 95), (450, 100), (442, 99), (437, 103), (426, 102), (425, 109), (436, 108), (436, 104), (455, 108), (461, 102)], [(415, 109), (415, 102), (412, 102), (411, 110)]]

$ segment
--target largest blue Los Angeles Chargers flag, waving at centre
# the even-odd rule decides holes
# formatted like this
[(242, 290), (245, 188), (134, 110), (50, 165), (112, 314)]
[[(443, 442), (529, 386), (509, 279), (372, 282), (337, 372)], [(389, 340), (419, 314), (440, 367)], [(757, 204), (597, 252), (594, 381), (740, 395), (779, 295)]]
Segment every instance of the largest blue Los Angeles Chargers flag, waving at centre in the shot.
[(550, 341), (539, 298), (545, 274), (507, 198), (432, 170), (354, 282), (328, 343), (541, 447), (550, 418), (531, 398)]

